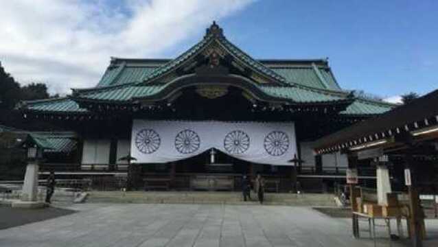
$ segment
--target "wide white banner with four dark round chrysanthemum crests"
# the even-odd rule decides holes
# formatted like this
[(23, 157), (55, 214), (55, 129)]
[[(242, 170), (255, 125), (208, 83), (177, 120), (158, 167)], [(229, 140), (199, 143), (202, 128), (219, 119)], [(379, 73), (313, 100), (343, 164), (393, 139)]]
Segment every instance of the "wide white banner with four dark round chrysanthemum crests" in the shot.
[(133, 163), (168, 163), (215, 148), (253, 163), (292, 165), (295, 125), (224, 121), (148, 121), (132, 124)]

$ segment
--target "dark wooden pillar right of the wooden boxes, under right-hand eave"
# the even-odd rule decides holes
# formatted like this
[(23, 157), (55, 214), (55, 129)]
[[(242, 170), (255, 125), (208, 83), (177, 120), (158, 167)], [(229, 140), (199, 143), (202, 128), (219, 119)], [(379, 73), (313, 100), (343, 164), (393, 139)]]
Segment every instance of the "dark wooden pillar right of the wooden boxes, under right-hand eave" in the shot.
[(424, 213), (422, 212), (422, 209), (419, 205), (417, 178), (415, 170), (413, 169), (413, 158), (411, 150), (406, 150), (405, 169), (408, 169), (411, 174), (411, 185), (407, 185), (409, 197), (409, 235), (411, 236), (411, 244), (413, 247), (422, 247), (422, 239), (425, 235)]

